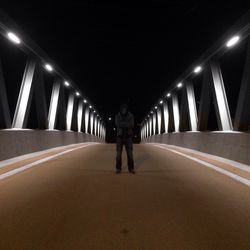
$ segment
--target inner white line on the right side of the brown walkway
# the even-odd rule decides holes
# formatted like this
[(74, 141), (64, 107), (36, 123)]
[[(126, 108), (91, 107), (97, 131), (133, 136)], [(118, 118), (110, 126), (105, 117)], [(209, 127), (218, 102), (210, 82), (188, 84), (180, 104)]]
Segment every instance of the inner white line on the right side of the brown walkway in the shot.
[(154, 145), (154, 146), (155, 146), (155, 147), (158, 147), (158, 148), (161, 148), (161, 149), (165, 149), (165, 150), (171, 151), (171, 152), (176, 153), (176, 154), (179, 154), (179, 155), (181, 155), (181, 156), (184, 156), (184, 157), (186, 157), (186, 158), (188, 158), (188, 159), (190, 159), (190, 160), (196, 161), (196, 162), (198, 162), (198, 163), (200, 163), (200, 164), (202, 164), (202, 165), (204, 165), (204, 166), (206, 166), (206, 167), (209, 167), (209, 168), (211, 168), (211, 169), (214, 169), (214, 170), (217, 171), (217, 172), (220, 172), (220, 173), (222, 173), (222, 174), (224, 174), (224, 175), (227, 175), (228, 177), (231, 177), (231, 178), (235, 179), (236, 181), (239, 181), (239, 182), (241, 182), (241, 183), (243, 183), (243, 184), (245, 184), (245, 185), (247, 185), (247, 186), (250, 186), (250, 180), (248, 180), (248, 179), (246, 179), (246, 178), (243, 178), (243, 177), (241, 177), (241, 176), (238, 176), (238, 175), (236, 175), (236, 174), (233, 174), (233, 173), (231, 173), (231, 172), (229, 172), (229, 171), (227, 171), (227, 170), (225, 170), (225, 169), (219, 168), (219, 167), (217, 167), (217, 166), (215, 166), (215, 165), (213, 165), (213, 164), (211, 164), (211, 163), (208, 163), (208, 162), (202, 161), (202, 160), (200, 160), (200, 159), (194, 158), (194, 157), (192, 157), (192, 156), (189, 156), (189, 155), (180, 153), (180, 152), (178, 152), (178, 151), (176, 151), (176, 150), (174, 150), (174, 149), (169, 149), (169, 148), (166, 148), (166, 147), (163, 147), (163, 146), (160, 146), (160, 145)]

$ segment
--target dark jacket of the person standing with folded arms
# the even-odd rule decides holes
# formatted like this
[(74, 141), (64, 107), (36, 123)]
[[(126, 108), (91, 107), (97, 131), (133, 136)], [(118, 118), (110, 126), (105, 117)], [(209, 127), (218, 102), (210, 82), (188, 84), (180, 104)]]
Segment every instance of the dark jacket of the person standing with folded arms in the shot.
[(126, 115), (121, 115), (119, 112), (115, 116), (115, 126), (117, 128), (117, 136), (132, 137), (134, 127), (134, 116), (128, 112)]

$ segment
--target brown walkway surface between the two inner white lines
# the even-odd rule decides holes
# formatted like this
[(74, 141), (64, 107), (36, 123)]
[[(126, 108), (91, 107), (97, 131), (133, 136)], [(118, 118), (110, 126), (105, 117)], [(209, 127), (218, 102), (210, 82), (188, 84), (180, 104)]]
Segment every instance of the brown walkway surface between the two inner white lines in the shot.
[(0, 180), (0, 249), (250, 249), (248, 186), (152, 145), (116, 175), (114, 152), (91, 145)]

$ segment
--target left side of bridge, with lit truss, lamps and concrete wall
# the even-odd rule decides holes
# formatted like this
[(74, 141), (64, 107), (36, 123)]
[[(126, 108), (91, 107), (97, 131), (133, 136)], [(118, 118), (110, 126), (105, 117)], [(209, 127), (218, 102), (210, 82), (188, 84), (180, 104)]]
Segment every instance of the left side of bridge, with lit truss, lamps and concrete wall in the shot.
[(0, 19), (0, 159), (103, 142), (105, 123), (94, 104), (8, 16)]

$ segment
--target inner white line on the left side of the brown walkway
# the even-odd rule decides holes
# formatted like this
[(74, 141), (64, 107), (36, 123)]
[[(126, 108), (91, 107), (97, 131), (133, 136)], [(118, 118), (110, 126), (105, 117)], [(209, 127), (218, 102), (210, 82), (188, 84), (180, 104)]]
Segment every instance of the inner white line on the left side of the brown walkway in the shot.
[(24, 165), (24, 166), (22, 166), (22, 167), (19, 167), (19, 168), (16, 168), (16, 169), (14, 169), (14, 170), (11, 170), (11, 171), (9, 171), (9, 172), (6, 172), (6, 173), (4, 173), (4, 174), (1, 174), (1, 175), (0, 175), (0, 180), (3, 180), (3, 179), (5, 179), (5, 178), (8, 178), (8, 177), (13, 176), (13, 175), (15, 175), (15, 174), (18, 174), (18, 173), (20, 173), (20, 172), (23, 172), (23, 171), (25, 171), (25, 170), (27, 170), (27, 169), (29, 169), (29, 168), (32, 168), (32, 167), (34, 167), (34, 166), (36, 166), (36, 165), (38, 165), (38, 164), (44, 163), (44, 162), (46, 162), (46, 161), (49, 161), (49, 160), (51, 160), (51, 159), (53, 159), (53, 158), (56, 158), (56, 157), (58, 157), (58, 156), (61, 156), (61, 155), (70, 153), (70, 152), (72, 152), (72, 151), (75, 151), (75, 150), (78, 150), (78, 149), (81, 149), (81, 148), (85, 148), (85, 147), (91, 146), (91, 145), (95, 145), (95, 143), (86, 144), (86, 145), (83, 145), (83, 146), (80, 146), (80, 147), (77, 147), (77, 148), (68, 149), (68, 150), (66, 150), (66, 151), (64, 151), (64, 152), (57, 153), (57, 154), (55, 154), (55, 155), (48, 156), (48, 157), (43, 158), (43, 159), (41, 159), (41, 160), (38, 160), (38, 161), (35, 161), (35, 162), (32, 162), (32, 163), (29, 163), (29, 164)]

